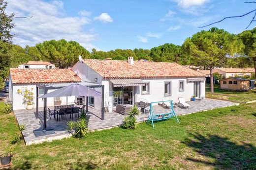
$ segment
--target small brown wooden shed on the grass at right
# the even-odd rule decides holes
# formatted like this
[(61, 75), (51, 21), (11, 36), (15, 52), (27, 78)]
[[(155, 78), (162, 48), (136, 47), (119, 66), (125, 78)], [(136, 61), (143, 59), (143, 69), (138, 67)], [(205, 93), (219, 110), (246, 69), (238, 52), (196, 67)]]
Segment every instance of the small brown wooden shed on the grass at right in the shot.
[(220, 80), (221, 89), (225, 90), (250, 90), (250, 80), (240, 77), (230, 77)]

